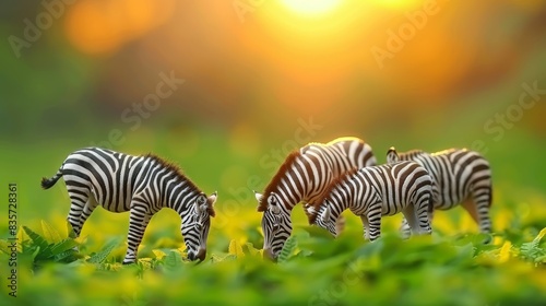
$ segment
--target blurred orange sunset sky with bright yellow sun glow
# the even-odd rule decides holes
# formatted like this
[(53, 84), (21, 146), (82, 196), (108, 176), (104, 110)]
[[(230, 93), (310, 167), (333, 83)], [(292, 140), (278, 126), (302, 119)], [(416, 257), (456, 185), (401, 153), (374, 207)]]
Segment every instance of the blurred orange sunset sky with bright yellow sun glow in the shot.
[[(83, 103), (115, 120), (155, 90), (161, 73), (171, 73), (185, 83), (165, 103), (224, 126), (271, 130), (316, 116), (349, 130), (385, 120), (404, 127), (423, 116), (441, 121), (451, 116), (446, 105), (476, 101), (491, 105), (485, 121), (518, 99), (523, 82), (546, 84), (545, 3), (79, 0), (52, 9), (52, 26), (21, 48), (19, 60), (9, 50), (0, 57), (50, 95), (21, 96), (21, 80), (2, 79), (8, 98), (21, 104)], [(48, 12), (38, 1), (9, 9), (7, 37), (24, 38), (22, 21)], [(67, 82), (75, 84), (71, 94)]]

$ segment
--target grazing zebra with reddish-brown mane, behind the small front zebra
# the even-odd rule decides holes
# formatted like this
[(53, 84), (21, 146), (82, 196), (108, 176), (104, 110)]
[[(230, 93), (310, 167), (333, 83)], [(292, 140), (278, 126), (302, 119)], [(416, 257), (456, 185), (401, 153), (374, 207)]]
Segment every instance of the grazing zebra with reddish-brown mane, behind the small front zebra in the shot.
[(327, 144), (309, 143), (292, 152), (262, 193), (256, 192), (263, 212), (263, 251), (276, 259), (292, 234), (292, 209), (312, 204), (330, 181), (346, 170), (376, 164), (371, 148), (358, 138), (340, 138)]

